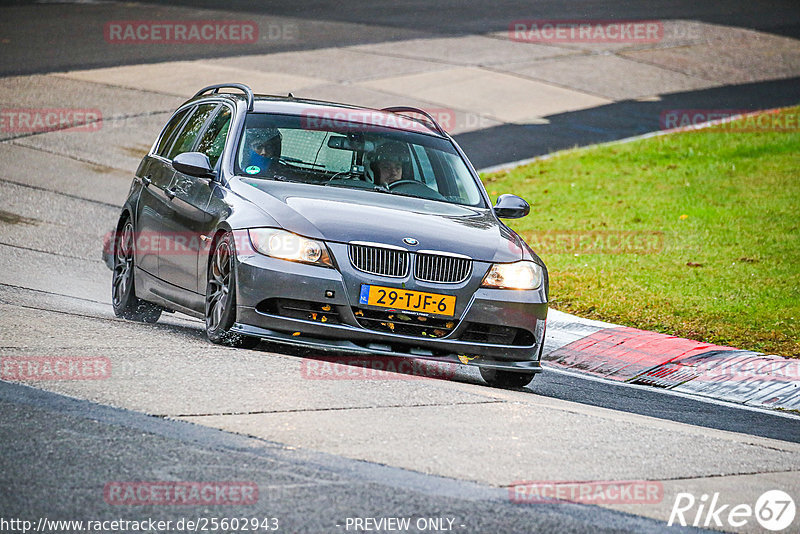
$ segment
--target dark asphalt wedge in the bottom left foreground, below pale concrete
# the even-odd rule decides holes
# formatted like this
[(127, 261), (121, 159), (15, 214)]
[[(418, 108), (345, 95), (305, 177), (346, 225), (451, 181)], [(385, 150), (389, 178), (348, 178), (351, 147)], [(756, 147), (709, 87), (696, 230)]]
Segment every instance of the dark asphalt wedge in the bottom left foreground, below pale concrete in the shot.
[[(663, 527), (582, 505), (514, 504), (502, 488), (287, 450), (25, 386), (0, 383), (0, 410), (6, 518), (277, 517), (280, 532), (344, 532), (348, 517), (447, 518), (456, 532), (660, 532)], [(41, 435), (48, 437), (30, 441)], [(259, 503), (224, 511), (120, 506), (109, 513), (97, 496), (109, 479), (125, 480), (132, 472), (139, 480), (163, 480), (169, 473), (177, 480), (216, 474), (216, 480), (253, 481)]]

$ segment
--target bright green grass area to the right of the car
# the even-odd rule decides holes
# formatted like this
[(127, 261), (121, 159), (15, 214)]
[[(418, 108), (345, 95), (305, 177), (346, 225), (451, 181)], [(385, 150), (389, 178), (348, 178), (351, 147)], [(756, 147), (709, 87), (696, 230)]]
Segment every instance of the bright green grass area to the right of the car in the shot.
[(493, 197), (532, 204), (509, 224), (547, 264), (551, 307), (800, 357), (799, 117), (575, 149), (482, 178)]

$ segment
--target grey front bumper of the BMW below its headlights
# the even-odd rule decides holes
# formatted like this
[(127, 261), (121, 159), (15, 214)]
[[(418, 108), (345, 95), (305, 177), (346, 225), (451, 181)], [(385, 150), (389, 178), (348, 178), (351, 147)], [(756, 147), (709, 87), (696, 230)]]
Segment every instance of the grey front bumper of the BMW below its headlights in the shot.
[[(346, 276), (352, 278), (352, 273)], [(365, 280), (365, 283), (374, 283)], [(260, 254), (237, 256), (237, 320), (232, 330), (272, 342), (321, 351), (376, 356), (401, 356), (469, 364), (478, 367), (541, 372), (547, 302), (544, 290), (509, 291), (480, 288), (472, 293), (455, 328), (444, 337), (421, 338), (361, 326), (349, 283), (336, 269), (293, 263)], [(332, 293), (333, 296), (330, 296)], [(334, 307), (337, 324), (285, 317), (257, 309), (267, 299), (294, 299)], [(481, 323), (525, 329), (533, 334), (528, 345), (461, 341), (468, 324)]]

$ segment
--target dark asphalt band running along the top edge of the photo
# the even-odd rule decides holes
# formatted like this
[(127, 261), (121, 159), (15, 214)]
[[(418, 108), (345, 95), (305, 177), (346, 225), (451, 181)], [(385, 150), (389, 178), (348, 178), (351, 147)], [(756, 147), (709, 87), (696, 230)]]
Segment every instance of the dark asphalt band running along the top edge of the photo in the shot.
[[(568, 6), (558, 0), (544, 2), (498, 1), (461, 2), (445, 0), (403, 0), (397, 2), (346, 2), (268, 0), (250, 2), (232, 0), (151, 1), (146, 13), (162, 19), (174, 6), (204, 8), (226, 12), (228, 16), (259, 14), (307, 21), (360, 24), (343, 33), (339, 28), (317, 27), (303, 39), (292, 42), (273, 41), (241, 48), (220, 46), (192, 47), (112, 47), (110, 50), (93, 30), (109, 20), (108, 14), (119, 11), (117, 4), (108, 4), (93, 16), (86, 16), (79, 3), (4, 2), (18, 10), (13, 19), (0, 21), (3, 35), (21, 37), (4, 45), (0, 57), (0, 73), (33, 74), (68, 69), (108, 67), (120, 64), (161, 62), (175, 59), (223, 57), (237, 54), (308, 50), (412, 37), (484, 34), (505, 31), (517, 19), (581, 19), (581, 20), (678, 20), (691, 19), (713, 24), (752, 28), (787, 37), (800, 37), (800, 10), (792, 0), (742, 2), (723, 0), (696, 2), (681, 0), (637, 3), (596, 2), (577, 0)], [(136, 4), (134, 4), (136, 6)], [(142, 17), (144, 18), (144, 17)], [(22, 38), (27, 36), (28, 38)], [(77, 37), (77, 38), (76, 38)], [(258, 47), (261, 47), (260, 49)]]

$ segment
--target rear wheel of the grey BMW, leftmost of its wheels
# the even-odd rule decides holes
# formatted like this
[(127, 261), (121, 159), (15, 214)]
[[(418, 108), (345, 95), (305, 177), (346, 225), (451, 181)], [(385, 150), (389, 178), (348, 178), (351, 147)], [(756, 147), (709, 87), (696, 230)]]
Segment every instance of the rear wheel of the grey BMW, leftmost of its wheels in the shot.
[(133, 236), (133, 221), (126, 219), (122, 231), (113, 241), (111, 305), (117, 317), (141, 323), (155, 323), (161, 317), (163, 308), (136, 297)]

